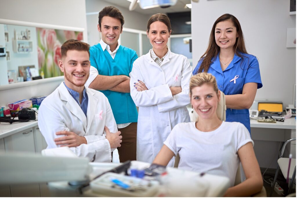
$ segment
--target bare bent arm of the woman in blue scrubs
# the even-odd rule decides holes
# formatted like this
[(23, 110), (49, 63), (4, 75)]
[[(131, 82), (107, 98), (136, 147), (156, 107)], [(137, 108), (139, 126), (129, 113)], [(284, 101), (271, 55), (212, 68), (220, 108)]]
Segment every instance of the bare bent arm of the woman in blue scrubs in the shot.
[(225, 95), (228, 109), (249, 109), (257, 93), (257, 83), (246, 83), (242, 94)]

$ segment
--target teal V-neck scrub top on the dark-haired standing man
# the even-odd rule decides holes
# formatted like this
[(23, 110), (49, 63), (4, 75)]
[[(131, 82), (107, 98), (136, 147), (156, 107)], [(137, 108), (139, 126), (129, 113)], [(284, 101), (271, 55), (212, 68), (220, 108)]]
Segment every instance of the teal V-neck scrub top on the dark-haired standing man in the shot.
[[(138, 58), (136, 51), (119, 46), (114, 59), (107, 50), (102, 50), (100, 44), (90, 47), (91, 66), (98, 70), (100, 75), (127, 75), (132, 70), (133, 62)], [(117, 124), (137, 122), (138, 112), (130, 93), (116, 91), (101, 91), (110, 103), (113, 116)]]

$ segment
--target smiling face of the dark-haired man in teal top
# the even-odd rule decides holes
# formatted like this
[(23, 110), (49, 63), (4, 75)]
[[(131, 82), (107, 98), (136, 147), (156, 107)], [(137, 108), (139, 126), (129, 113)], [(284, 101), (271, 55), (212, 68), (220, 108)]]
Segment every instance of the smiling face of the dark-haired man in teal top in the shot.
[(119, 19), (104, 16), (101, 20), (101, 28), (98, 24), (98, 31), (101, 32), (102, 40), (116, 49), (120, 34), (122, 33), (121, 21)]

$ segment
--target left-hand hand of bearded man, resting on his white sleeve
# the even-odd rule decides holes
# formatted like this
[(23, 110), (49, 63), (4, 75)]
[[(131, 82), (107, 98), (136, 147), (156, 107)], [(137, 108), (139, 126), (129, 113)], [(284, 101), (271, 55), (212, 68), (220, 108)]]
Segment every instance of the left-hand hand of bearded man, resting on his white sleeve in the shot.
[(79, 136), (70, 131), (58, 131), (56, 135), (64, 135), (63, 137), (54, 139), (56, 145), (61, 145), (61, 147), (78, 147), (81, 144), (87, 144), (83, 136)]

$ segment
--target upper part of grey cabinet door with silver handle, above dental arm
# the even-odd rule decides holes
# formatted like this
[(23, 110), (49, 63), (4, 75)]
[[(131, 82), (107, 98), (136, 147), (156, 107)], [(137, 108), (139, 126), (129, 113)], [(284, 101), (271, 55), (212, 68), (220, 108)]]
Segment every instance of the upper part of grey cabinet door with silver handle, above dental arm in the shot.
[(35, 153), (33, 128), (20, 131), (4, 138), (4, 145), (5, 152), (22, 151)]

